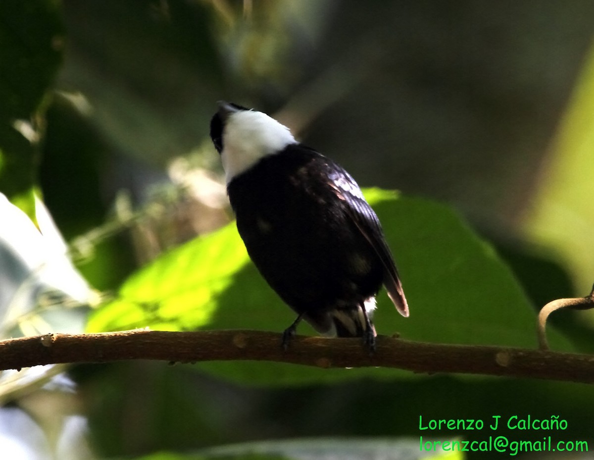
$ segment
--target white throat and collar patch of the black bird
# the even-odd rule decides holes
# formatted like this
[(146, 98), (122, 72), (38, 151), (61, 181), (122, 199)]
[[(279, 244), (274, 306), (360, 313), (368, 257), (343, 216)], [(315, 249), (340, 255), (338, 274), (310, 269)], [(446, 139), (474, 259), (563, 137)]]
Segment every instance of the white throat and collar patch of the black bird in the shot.
[(229, 182), (267, 155), (279, 153), (296, 144), (289, 128), (257, 111), (239, 111), (229, 115), (223, 133), (221, 159)]

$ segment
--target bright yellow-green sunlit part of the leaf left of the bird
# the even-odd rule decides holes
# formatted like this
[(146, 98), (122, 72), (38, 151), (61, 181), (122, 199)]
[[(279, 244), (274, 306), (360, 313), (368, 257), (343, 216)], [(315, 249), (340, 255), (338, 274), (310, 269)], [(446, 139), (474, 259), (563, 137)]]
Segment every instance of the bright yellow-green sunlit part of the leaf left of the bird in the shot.
[(118, 300), (91, 316), (89, 330), (191, 330), (210, 326), (220, 296), (249, 262), (234, 225), (189, 241), (134, 273)]

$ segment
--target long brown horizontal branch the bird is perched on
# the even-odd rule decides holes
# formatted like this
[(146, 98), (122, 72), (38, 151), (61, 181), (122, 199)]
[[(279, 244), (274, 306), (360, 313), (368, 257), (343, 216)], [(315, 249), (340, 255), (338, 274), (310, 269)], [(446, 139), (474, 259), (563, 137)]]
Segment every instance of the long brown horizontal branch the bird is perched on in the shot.
[(55, 363), (121, 360), (256, 360), (317, 367), (394, 367), (419, 373), (464, 373), (594, 382), (594, 356), (538, 349), (412, 342), (378, 336), (369, 356), (359, 339), (296, 336), (289, 349), (281, 335), (253, 330), (100, 334), (49, 334), (0, 342), (0, 370)]

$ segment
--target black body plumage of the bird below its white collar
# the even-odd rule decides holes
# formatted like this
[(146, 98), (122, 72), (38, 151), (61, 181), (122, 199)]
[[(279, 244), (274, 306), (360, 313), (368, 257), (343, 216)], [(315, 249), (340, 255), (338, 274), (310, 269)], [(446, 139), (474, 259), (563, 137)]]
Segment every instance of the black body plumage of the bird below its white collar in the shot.
[[(239, 234), (266, 281), (320, 332), (358, 311), (396, 267), (374, 211), (339, 165), (301, 144), (228, 184)], [(397, 274), (394, 275), (397, 278)]]

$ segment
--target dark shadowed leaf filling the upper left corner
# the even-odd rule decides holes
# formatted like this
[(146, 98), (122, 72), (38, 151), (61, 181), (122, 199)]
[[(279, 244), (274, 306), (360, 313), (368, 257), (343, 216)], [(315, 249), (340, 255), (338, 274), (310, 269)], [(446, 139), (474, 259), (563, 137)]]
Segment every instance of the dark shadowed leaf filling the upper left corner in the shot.
[(0, 2), (0, 190), (33, 219), (40, 114), (63, 46), (58, 2)]

